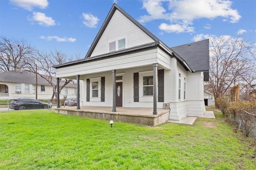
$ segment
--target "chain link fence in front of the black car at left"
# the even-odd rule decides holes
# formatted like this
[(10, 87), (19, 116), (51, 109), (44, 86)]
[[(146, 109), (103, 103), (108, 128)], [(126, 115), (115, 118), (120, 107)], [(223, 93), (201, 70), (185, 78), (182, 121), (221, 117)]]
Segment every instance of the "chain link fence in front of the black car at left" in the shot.
[[(53, 101), (55, 103), (55, 101)], [(0, 111), (25, 110), (25, 109), (52, 109), (50, 99), (0, 99)]]

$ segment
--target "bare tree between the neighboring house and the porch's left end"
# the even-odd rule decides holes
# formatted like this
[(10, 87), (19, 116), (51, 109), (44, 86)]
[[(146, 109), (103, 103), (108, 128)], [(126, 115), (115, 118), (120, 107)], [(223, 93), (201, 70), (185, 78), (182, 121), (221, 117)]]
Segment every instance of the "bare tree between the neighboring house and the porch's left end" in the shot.
[[(76, 58), (75, 58), (76, 59)], [(26, 65), (30, 68), (30, 72), (36, 73), (36, 67), (38, 69), (37, 74), (44, 78), (52, 86), (53, 94), (52, 99), (56, 98), (57, 92), (57, 80), (55, 78), (55, 69), (52, 68), (53, 65), (66, 63), (68, 61), (74, 60), (73, 57), (68, 57), (65, 53), (61, 51), (54, 50), (50, 52), (37, 51), (36, 55), (32, 59), (26, 61)], [(68, 84), (75, 83), (72, 79), (59, 79), (60, 91)]]

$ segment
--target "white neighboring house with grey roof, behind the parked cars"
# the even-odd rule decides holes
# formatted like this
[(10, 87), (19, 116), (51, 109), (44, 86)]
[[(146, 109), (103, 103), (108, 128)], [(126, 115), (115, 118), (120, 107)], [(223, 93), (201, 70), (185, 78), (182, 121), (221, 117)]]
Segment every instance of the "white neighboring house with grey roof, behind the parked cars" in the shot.
[[(51, 99), (52, 86), (41, 76), (37, 76), (37, 98)], [(76, 85), (66, 85), (61, 94), (76, 97)], [(0, 99), (36, 98), (36, 74), (22, 71), (0, 73)]]

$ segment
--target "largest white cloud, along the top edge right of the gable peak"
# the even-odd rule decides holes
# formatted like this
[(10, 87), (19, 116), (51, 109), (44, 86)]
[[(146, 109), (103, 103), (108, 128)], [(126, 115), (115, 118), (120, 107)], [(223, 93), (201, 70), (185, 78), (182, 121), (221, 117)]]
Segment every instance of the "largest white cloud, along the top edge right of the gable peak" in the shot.
[[(166, 4), (168, 8), (164, 7)], [(143, 8), (148, 15), (140, 16), (139, 21), (169, 20), (170, 23), (162, 23), (159, 28), (166, 32), (193, 32), (191, 25), (196, 19), (222, 17), (231, 23), (239, 21), (241, 16), (231, 5), (232, 2), (226, 0), (144, 0)]]

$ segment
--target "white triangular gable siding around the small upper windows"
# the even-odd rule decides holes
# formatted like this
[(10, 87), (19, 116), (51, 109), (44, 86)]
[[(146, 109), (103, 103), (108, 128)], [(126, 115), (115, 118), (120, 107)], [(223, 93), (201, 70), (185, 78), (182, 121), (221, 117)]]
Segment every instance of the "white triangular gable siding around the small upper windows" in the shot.
[(154, 42), (132, 21), (116, 10), (90, 57), (108, 53), (109, 40), (118, 40), (123, 37), (128, 38), (128, 48)]

